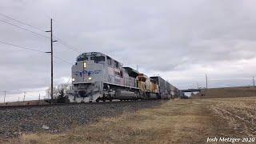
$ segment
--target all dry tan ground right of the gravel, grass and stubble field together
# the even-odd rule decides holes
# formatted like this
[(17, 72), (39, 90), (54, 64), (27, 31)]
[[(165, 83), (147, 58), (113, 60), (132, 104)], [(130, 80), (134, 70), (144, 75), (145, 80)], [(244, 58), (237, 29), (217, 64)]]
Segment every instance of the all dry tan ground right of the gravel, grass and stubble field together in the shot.
[(86, 126), (74, 123), (72, 130), (63, 134), (23, 134), (2, 142), (206, 143), (208, 137), (255, 137), (255, 122), (254, 97), (175, 99), (116, 118), (102, 118)]

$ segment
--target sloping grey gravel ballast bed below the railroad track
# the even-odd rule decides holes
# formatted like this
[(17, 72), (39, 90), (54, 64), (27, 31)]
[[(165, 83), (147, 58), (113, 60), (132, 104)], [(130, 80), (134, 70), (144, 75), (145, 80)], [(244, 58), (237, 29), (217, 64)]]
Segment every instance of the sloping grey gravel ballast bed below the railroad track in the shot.
[(63, 132), (74, 124), (97, 122), (102, 117), (130, 113), (158, 106), (162, 102), (164, 101), (150, 100), (0, 109), (0, 137), (10, 138), (43, 131)]

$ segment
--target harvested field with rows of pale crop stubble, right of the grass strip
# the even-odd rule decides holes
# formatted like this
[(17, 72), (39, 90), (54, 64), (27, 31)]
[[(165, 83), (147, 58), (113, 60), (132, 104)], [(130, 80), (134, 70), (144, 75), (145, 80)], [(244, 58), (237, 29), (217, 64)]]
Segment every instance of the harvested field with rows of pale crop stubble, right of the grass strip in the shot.
[(214, 114), (243, 136), (256, 135), (256, 98), (223, 98), (206, 100)]

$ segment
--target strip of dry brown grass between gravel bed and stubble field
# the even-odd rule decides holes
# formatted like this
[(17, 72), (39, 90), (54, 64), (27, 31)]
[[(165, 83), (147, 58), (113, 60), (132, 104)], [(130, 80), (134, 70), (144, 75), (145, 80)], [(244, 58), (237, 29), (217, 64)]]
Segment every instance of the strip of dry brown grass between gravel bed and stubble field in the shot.
[(210, 116), (201, 102), (175, 100), (153, 109), (102, 118), (65, 134), (22, 135), (23, 143), (198, 143), (206, 141)]

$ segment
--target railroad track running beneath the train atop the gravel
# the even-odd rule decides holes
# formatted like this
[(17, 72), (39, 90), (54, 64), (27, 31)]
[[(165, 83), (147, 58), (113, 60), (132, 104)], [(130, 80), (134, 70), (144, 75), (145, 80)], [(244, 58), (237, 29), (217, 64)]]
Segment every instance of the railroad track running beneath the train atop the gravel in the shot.
[(34, 107), (50, 107), (50, 106), (71, 106), (71, 105), (105, 105), (114, 103), (127, 103), (127, 102), (149, 102), (149, 101), (162, 101), (162, 99), (149, 99), (149, 100), (136, 100), (136, 101), (113, 101), (113, 102), (70, 102), (70, 103), (54, 103), (42, 105), (19, 105), (19, 106), (0, 106), (0, 110), (7, 109), (25, 109)]

